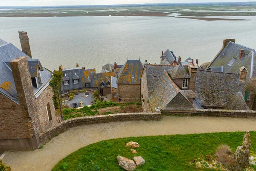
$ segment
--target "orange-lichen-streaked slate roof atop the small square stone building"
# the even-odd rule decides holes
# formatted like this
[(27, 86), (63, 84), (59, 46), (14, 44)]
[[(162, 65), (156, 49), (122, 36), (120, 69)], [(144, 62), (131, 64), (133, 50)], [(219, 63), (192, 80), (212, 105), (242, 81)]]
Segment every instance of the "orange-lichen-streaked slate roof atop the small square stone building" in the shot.
[(117, 84), (140, 84), (143, 68), (140, 60), (127, 60), (118, 71)]

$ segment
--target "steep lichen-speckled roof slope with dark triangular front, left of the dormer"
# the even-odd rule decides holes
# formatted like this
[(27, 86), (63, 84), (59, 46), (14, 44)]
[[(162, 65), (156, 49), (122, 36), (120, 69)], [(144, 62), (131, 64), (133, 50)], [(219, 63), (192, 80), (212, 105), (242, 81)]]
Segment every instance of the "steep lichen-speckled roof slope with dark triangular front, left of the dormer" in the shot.
[(195, 110), (195, 107), (181, 93), (166, 71), (160, 75), (157, 85), (148, 99), (152, 109), (160, 107), (162, 110)]

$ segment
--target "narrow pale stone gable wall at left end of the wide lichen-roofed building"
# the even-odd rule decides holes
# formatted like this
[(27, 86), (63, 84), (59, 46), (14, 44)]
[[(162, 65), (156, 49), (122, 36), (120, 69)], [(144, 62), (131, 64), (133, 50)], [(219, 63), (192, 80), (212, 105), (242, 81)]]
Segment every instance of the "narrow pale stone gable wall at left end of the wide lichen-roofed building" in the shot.
[[(151, 108), (148, 102), (148, 84), (147, 84), (147, 73), (146, 70), (143, 71), (141, 76), (141, 104), (143, 112), (151, 112)], [(144, 99), (144, 100), (143, 100)]]

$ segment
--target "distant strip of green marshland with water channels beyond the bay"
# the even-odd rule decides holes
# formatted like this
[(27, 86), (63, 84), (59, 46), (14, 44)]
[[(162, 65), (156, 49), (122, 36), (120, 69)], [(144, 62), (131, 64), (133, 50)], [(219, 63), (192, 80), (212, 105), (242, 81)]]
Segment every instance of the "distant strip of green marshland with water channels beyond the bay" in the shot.
[(61, 17), (61, 16), (254, 16), (256, 6), (148, 6), (148, 7), (90, 7), (0, 10), (0, 17)]

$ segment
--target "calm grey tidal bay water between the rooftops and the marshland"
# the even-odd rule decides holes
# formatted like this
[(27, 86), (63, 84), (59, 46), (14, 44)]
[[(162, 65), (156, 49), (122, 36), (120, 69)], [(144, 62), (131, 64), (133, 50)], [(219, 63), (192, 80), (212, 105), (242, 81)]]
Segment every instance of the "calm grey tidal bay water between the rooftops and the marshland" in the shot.
[[(249, 21), (205, 21), (175, 17), (2, 17), (0, 38), (20, 48), (18, 31), (28, 32), (32, 58), (50, 70), (124, 64), (127, 58), (160, 63), (161, 51), (210, 62), (222, 41), (234, 38), (256, 49), (256, 17)], [(21, 49), (21, 48), (20, 48)]]

